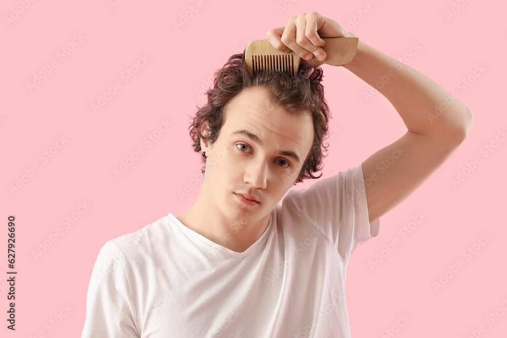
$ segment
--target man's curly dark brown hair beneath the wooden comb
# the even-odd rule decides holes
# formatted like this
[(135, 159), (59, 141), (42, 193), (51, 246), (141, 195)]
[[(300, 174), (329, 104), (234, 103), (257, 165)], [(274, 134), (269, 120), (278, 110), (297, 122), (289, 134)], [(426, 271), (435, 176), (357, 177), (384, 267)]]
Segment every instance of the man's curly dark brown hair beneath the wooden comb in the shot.
[[(300, 65), (296, 76), (291, 72), (258, 71), (252, 76), (246, 68), (243, 54), (234, 54), (225, 65), (214, 73), (213, 88), (206, 95), (208, 101), (196, 112), (189, 127), (192, 146), (197, 153), (201, 152), (201, 138), (208, 144), (213, 144), (218, 138), (220, 129), (225, 121), (224, 107), (243, 89), (261, 86), (268, 90), (269, 100), (285, 108), (297, 116), (310, 114), (313, 120), (314, 139), (296, 183), (303, 182), (305, 178), (319, 178), (313, 173), (322, 170), (322, 160), (327, 156), (329, 144), (324, 140), (329, 136), (329, 119), (331, 113), (324, 98), (322, 69), (309, 68)], [(201, 134), (202, 126), (207, 122), (208, 137)], [(201, 157), (204, 174), (206, 159)]]

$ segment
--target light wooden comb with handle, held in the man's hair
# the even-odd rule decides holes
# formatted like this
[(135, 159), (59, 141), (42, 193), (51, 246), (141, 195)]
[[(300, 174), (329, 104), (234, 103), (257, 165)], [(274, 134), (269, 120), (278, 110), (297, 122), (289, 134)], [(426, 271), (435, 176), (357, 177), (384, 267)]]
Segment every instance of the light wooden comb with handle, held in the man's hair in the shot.
[[(323, 37), (325, 45), (321, 48), (326, 54), (326, 58), (320, 61), (313, 56), (313, 60), (333, 66), (342, 66), (350, 61), (357, 52), (358, 37)], [(252, 41), (245, 50), (246, 67), (250, 74), (261, 69), (288, 71), (296, 75), (301, 63), (301, 56), (294, 51), (283, 53), (275, 49), (268, 40)]]

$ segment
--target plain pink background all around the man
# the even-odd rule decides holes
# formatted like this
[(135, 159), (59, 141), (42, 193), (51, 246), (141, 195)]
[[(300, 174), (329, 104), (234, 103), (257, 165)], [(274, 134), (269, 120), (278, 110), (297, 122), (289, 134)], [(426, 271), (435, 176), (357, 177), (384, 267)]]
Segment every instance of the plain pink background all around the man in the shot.
[[(0, 335), (81, 335), (88, 283), (103, 244), (169, 212), (179, 215), (197, 198), (200, 184), (193, 179), (200, 175), (200, 155), (192, 151), (188, 127), (196, 104), (205, 102), (201, 86), (210, 84), (211, 73), (228, 56), (265, 39), (268, 29), (317, 11), (456, 92), (475, 116), (467, 139), (448, 161), (382, 216), (378, 237), (352, 255), (346, 284), (352, 335), (392, 336), (389, 329), (414, 338), (468, 337), (470, 331), (505, 336), (507, 141), (497, 136), (507, 126), (504, 2), (201, 0), (198, 7), (194, 0), (118, 0), (111, 7), (113, 1), (24, 0), (26, 9), (20, 0), (2, 2), (0, 274), (9, 270), (7, 218), (15, 215), (18, 275), (16, 331), (6, 328), (8, 285), (7, 277), (0, 278)], [(189, 6), (198, 10), (187, 13), (191, 18), (176, 29), (173, 22)], [(456, 13), (448, 18), (453, 7)], [(6, 22), (6, 17), (14, 19)], [(81, 40), (75, 38), (79, 35)], [(139, 55), (148, 60), (141, 63)], [(481, 65), (485, 70), (474, 74)], [(124, 71), (131, 67), (136, 72), (127, 81)], [(44, 77), (50, 68), (39, 85), (28, 88), (34, 74)], [(324, 163), (322, 177), (329, 177), (358, 166), (406, 128), (381, 94), (366, 100), (370, 87), (347, 69), (323, 69), (331, 126), (338, 130)], [(469, 86), (463, 83), (467, 78)], [(116, 82), (121, 88), (93, 111), (92, 103)], [(161, 121), (170, 127), (155, 132)], [(154, 132), (156, 142), (143, 142)], [(495, 143), (495, 137), (502, 142)], [(495, 146), (493, 152), (485, 151), (486, 144)], [(138, 147), (143, 154), (117, 178), (114, 169)], [(41, 157), (45, 151), (51, 158)], [(480, 163), (466, 170), (476, 158)], [(39, 170), (31, 171), (34, 165)], [(453, 187), (450, 180), (458, 171), (466, 176)], [(22, 177), (23, 186), (12, 193), (10, 185)], [(195, 186), (190, 193), (178, 196), (190, 184)], [(89, 205), (82, 214), (80, 203)], [(400, 231), (417, 212), (427, 216), (403, 236)], [(62, 224), (73, 216), (70, 226)], [(481, 245), (483, 234), (491, 238)], [(34, 258), (33, 252), (55, 236)], [(389, 252), (386, 246), (394, 239), (399, 245)], [(475, 250), (474, 244), (477, 252), (463, 255), (468, 247)], [(377, 254), (385, 257), (372, 269)], [(452, 272), (449, 266), (458, 259), (464, 265)], [(446, 272), (450, 279), (437, 290), (433, 282)], [(56, 327), (49, 324), (59, 320), (62, 306), (70, 312)], [(497, 317), (490, 316), (495, 311)], [(404, 315), (408, 321), (398, 321)]]

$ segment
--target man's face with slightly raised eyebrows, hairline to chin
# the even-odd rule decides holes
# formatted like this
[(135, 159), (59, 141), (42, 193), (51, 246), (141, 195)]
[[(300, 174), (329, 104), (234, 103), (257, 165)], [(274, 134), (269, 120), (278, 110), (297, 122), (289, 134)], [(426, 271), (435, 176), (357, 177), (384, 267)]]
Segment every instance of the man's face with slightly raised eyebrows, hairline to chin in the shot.
[[(297, 180), (310, 152), (312, 117), (294, 116), (271, 104), (261, 87), (244, 89), (229, 101), (224, 114), (215, 143), (208, 147), (201, 139), (208, 157), (209, 205), (239, 227), (264, 222)], [(240, 194), (259, 203), (243, 203)]]

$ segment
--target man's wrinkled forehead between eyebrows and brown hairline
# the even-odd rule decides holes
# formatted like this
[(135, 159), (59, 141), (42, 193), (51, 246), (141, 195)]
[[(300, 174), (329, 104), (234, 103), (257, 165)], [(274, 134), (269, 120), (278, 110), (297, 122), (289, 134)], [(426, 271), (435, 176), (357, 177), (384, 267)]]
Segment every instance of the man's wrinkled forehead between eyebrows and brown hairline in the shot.
[(246, 129), (267, 145), (293, 148), (304, 161), (313, 143), (313, 121), (309, 113), (296, 116), (269, 100), (262, 87), (244, 89), (225, 107), (225, 136)]

